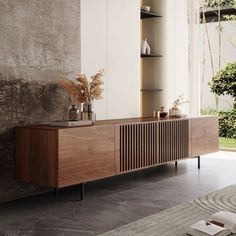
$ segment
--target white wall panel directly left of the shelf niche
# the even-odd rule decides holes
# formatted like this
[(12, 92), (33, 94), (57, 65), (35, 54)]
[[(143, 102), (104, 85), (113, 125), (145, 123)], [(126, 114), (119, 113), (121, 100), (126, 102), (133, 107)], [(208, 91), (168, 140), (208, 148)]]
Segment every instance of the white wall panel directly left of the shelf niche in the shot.
[(108, 0), (108, 118), (140, 115), (140, 2)]

